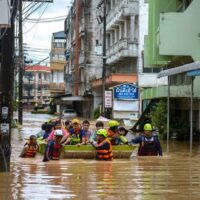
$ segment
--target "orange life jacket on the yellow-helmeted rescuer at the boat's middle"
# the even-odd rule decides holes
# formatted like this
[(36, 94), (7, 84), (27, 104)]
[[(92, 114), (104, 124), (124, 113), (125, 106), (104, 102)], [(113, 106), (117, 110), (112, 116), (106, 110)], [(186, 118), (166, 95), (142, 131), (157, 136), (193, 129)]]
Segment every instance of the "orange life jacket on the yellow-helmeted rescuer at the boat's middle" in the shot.
[(112, 144), (108, 139), (105, 139), (103, 142), (99, 144), (99, 146), (103, 145), (104, 143), (109, 144), (109, 149), (97, 149), (97, 159), (98, 160), (112, 160), (113, 154), (112, 154)]

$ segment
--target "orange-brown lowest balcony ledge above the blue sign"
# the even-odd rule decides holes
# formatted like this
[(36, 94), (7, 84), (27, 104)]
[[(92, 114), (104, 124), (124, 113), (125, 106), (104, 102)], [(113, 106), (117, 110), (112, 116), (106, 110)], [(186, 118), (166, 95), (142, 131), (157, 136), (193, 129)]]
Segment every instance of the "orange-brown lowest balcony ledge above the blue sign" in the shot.
[[(110, 76), (106, 77), (106, 85), (108, 87), (112, 87), (116, 84), (120, 83), (136, 83), (138, 81), (138, 76), (135, 73), (129, 74), (111, 74)], [(102, 79), (97, 79), (91, 81), (92, 87), (99, 87), (102, 86)]]

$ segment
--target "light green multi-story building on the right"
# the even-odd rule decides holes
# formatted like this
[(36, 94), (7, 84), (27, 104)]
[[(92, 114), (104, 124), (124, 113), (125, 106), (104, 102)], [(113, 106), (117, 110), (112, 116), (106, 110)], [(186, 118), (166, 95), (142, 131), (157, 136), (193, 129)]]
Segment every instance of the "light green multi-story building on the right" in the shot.
[[(186, 75), (200, 60), (199, 0), (154, 0), (149, 3), (149, 34), (145, 39), (145, 65), (173, 71), (169, 78), (170, 112), (173, 119), (189, 125), (191, 119), (191, 77)], [(186, 65), (187, 64), (187, 65)], [(184, 71), (175, 70), (185, 65)], [(198, 67), (198, 66), (197, 66)], [(173, 69), (175, 68), (175, 69)], [(167, 73), (166, 73), (167, 74)], [(200, 130), (199, 77), (194, 78), (193, 125)], [(166, 98), (168, 87), (159, 86), (142, 92), (143, 100)], [(177, 121), (175, 122), (177, 123)], [(189, 130), (187, 129), (189, 132)]]

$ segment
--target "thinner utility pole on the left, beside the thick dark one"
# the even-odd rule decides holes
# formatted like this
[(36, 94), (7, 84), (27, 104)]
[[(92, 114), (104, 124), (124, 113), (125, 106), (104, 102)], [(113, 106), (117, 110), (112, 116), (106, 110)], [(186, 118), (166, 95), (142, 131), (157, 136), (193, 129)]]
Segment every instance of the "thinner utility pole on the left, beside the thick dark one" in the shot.
[(23, 73), (24, 73), (24, 53), (23, 53), (23, 28), (22, 28), (22, 0), (19, 0), (19, 107), (18, 121), (23, 124)]

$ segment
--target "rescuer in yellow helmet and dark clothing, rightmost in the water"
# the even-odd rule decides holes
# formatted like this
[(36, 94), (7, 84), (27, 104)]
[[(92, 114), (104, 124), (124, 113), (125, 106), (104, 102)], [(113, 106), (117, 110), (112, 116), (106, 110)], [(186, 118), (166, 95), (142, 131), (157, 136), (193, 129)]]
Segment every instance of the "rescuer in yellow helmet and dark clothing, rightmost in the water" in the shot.
[(132, 139), (130, 142), (133, 144), (140, 144), (138, 156), (162, 156), (162, 147), (158, 136), (152, 134), (152, 125), (146, 123), (143, 129), (144, 133)]

